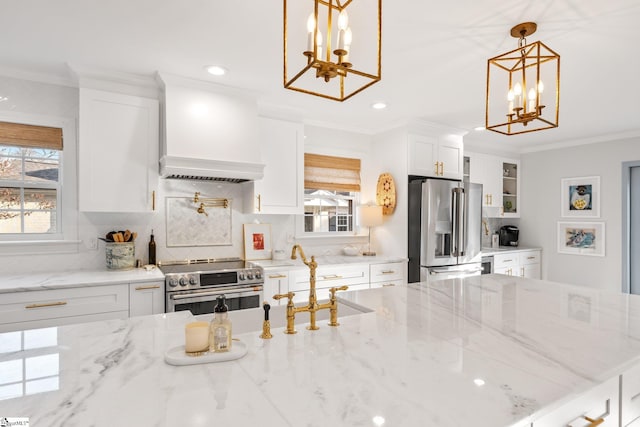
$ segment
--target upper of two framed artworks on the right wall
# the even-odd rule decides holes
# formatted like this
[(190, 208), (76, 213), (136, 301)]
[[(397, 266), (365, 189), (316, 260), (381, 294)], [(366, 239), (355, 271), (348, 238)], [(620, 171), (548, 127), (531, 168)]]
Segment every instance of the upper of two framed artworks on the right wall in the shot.
[(563, 217), (600, 217), (600, 177), (562, 179), (560, 203)]

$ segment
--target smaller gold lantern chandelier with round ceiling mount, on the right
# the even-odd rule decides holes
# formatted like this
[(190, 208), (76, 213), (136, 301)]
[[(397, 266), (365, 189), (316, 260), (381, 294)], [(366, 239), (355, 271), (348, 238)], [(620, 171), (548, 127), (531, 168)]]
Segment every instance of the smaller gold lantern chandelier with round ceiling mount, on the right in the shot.
[(536, 29), (534, 22), (513, 27), (518, 48), (487, 62), (489, 130), (516, 135), (558, 127), (560, 55), (540, 41), (527, 44)]

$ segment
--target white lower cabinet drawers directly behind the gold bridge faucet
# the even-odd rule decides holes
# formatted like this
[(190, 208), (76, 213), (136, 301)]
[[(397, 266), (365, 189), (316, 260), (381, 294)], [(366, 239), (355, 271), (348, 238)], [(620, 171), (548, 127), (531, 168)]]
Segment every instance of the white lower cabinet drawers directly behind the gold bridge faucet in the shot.
[[(349, 290), (369, 289), (369, 264), (321, 266), (316, 270), (316, 296), (329, 298), (329, 289), (347, 285)], [(291, 272), (289, 291), (295, 292), (294, 302), (309, 300), (309, 269)]]

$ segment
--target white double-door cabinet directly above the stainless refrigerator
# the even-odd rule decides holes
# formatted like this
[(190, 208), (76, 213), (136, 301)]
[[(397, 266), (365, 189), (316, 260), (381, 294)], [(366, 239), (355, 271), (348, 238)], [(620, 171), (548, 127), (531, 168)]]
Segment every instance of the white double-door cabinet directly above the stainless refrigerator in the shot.
[(463, 143), (460, 135), (409, 134), (409, 175), (462, 179)]

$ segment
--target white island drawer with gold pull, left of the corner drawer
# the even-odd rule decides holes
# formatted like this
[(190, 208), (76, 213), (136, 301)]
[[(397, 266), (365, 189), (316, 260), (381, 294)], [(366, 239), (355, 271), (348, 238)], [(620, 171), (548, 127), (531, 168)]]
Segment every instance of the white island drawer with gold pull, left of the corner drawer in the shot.
[[(620, 425), (619, 377), (588, 390), (560, 408), (534, 419), (532, 427), (618, 427)], [(623, 404), (624, 407), (624, 404)], [(600, 420), (602, 422), (598, 423)]]

